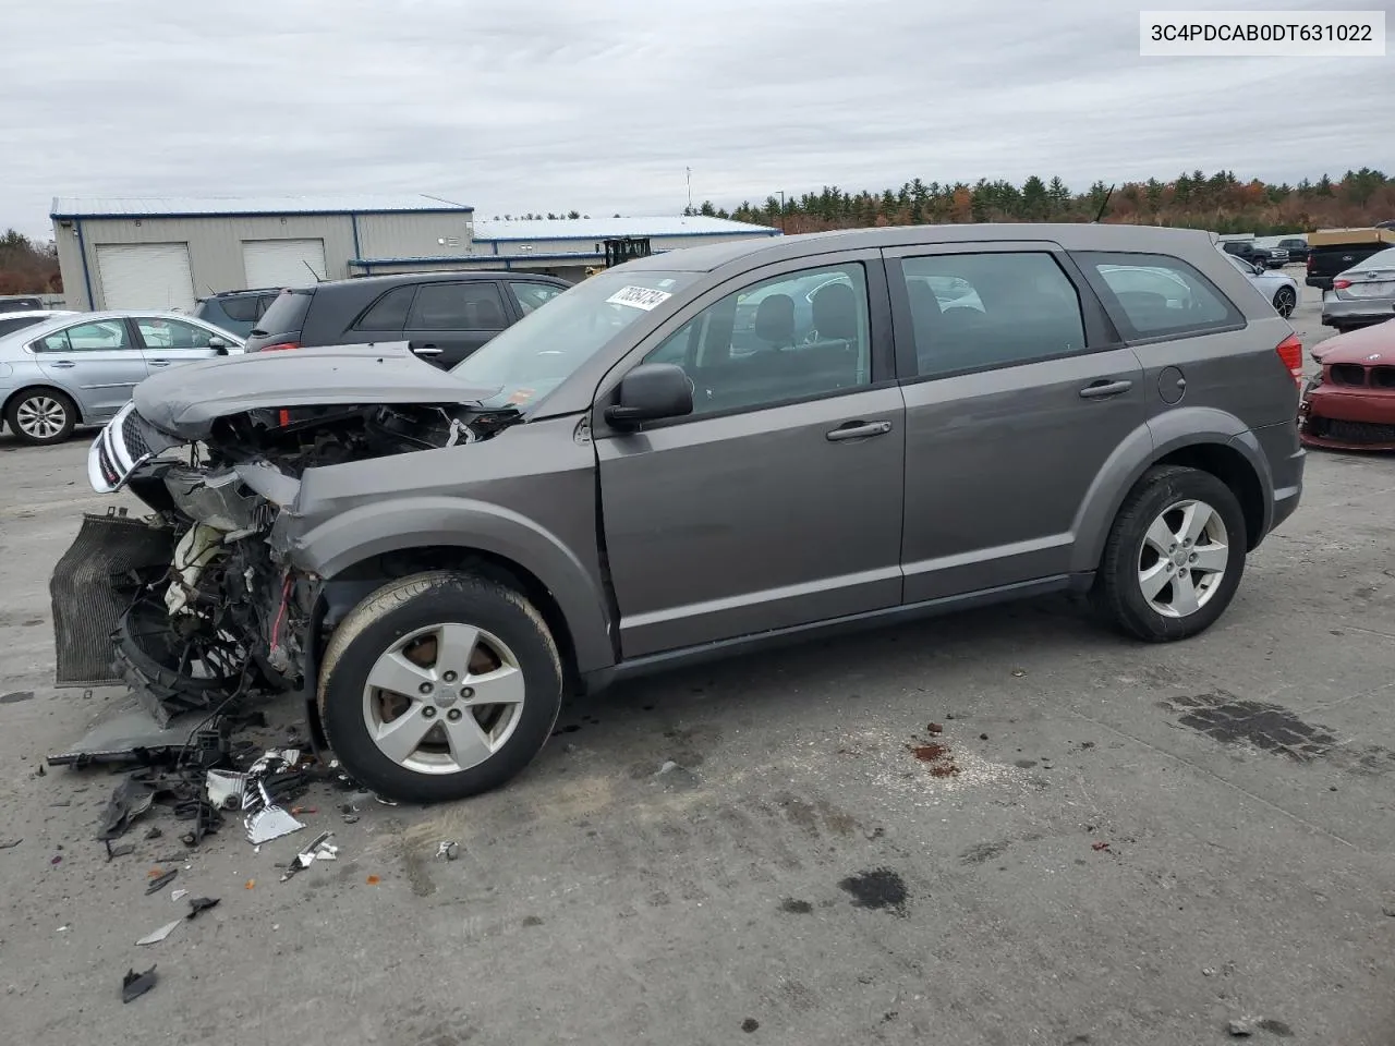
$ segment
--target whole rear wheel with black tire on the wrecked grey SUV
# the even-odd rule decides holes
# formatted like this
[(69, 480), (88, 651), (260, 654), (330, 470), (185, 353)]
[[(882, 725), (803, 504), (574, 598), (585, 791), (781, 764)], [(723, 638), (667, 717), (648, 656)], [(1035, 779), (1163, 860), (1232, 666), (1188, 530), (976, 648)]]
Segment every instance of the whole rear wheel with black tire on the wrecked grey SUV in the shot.
[[(1152, 527), (1161, 523), (1182, 538), (1189, 519), (1197, 523), (1202, 519), (1200, 508), (1194, 516), (1186, 516), (1182, 506), (1193, 503), (1209, 509), (1214, 522), (1204, 526), (1190, 548), (1179, 540), (1169, 554), (1162, 554), (1156, 537), (1163, 531)], [(1208, 551), (1216, 544), (1223, 554)], [(1170, 464), (1149, 469), (1115, 517), (1091, 601), (1109, 625), (1134, 639), (1165, 643), (1196, 636), (1230, 605), (1244, 573), (1246, 545), (1244, 512), (1225, 483), (1198, 469)], [(1219, 570), (1209, 569), (1216, 565)], [(1149, 582), (1162, 583), (1152, 600), (1144, 591)], [(1187, 587), (1194, 608), (1186, 597)]]

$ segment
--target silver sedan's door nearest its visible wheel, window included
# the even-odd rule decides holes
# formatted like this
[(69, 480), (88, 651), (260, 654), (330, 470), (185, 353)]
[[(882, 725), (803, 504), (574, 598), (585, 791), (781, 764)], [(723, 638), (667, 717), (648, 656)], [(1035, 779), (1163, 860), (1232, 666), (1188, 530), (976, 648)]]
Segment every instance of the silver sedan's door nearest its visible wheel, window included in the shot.
[(124, 319), (92, 319), (45, 335), (32, 344), (54, 385), (73, 392), (84, 421), (112, 417), (145, 381), (145, 357)]

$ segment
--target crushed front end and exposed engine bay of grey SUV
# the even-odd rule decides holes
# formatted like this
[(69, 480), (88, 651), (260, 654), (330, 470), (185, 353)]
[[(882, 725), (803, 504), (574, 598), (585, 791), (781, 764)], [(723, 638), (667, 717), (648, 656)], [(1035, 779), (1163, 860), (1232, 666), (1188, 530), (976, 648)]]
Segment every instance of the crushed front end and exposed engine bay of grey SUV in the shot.
[(271, 543), (307, 470), (472, 444), (520, 420), (467, 404), (239, 410), (195, 442), (133, 402), (88, 476), (149, 509), (88, 515), (50, 583), (59, 686), (127, 683), (163, 725), (241, 696), (297, 690), (319, 579)]

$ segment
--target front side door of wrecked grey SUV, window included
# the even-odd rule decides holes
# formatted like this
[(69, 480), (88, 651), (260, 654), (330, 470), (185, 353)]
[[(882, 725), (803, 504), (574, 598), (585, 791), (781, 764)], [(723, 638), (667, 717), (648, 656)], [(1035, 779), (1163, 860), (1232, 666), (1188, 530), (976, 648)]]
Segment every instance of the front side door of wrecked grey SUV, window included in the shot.
[(904, 407), (880, 259), (764, 272), (638, 354), (684, 367), (693, 414), (598, 430), (626, 658), (900, 602)]

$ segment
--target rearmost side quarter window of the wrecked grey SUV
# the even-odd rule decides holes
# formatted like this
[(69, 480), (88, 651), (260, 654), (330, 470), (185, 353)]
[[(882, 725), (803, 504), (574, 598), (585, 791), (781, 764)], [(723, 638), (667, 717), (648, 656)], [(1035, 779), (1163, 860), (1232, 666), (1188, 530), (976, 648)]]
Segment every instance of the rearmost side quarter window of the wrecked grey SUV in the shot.
[(1168, 254), (1080, 251), (1074, 258), (1127, 338), (1244, 326), (1240, 310), (1187, 262)]

